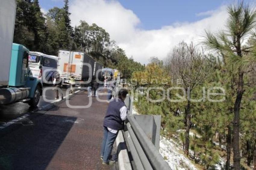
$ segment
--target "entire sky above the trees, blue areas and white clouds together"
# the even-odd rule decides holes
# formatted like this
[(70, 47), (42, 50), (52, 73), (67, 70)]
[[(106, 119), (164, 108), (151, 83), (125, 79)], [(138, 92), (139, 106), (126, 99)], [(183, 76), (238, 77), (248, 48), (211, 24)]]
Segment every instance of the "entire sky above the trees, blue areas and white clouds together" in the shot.
[[(147, 63), (164, 59), (180, 41), (195, 44), (205, 30), (225, 29), (226, 8), (237, 0), (70, 0), (71, 25), (80, 20), (104, 28), (127, 56)], [(244, 0), (254, 2), (255, 0)], [(39, 0), (43, 11), (63, 0)]]

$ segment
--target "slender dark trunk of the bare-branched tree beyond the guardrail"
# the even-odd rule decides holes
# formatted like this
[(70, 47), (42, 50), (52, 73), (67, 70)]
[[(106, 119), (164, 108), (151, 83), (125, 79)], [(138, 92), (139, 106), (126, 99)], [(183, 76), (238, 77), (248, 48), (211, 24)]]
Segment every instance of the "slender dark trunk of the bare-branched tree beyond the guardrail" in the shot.
[(185, 109), (185, 127), (186, 127), (186, 133), (185, 133), (185, 150), (184, 153), (186, 156), (189, 156), (189, 129), (190, 129), (190, 101), (188, 99), (188, 104)]

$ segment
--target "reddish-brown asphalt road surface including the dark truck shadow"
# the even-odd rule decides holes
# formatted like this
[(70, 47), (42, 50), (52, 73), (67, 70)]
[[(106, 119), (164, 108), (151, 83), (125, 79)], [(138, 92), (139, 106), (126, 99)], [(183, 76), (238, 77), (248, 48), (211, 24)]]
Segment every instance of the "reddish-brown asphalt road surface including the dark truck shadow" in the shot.
[[(55, 98), (51, 90), (45, 94), (46, 99)], [(85, 106), (90, 99), (89, 108), (67, 107), (67, 101)], [(79, 90), (61, 101), (41, 100), (37, 110), (25, 103), (1, 106), (0, 169), (118, 169), (117, 163), (102, 165), (100, 160), (108, 104), (90, 99)]]

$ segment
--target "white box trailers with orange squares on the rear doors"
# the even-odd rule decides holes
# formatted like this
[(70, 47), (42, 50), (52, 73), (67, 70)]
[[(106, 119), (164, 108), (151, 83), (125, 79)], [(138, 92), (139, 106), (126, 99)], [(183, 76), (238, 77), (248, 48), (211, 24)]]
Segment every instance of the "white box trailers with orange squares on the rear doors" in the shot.
[(58, 57), (58, 71), (64, 84), (69, 83), (71, 76), (76, 80), (76, 84), (83, 83), (89, 78), (93, 80), (96, 76), (98, 79), (102, 79), (101, 69), (103, 65), (96, 62), (87, 53), (59, 50)]

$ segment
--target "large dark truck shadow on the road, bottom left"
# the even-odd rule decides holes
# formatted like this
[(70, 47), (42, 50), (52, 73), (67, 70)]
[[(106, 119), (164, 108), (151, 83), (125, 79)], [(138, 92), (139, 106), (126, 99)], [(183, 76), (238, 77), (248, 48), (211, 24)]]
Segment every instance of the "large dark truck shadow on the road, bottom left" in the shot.
[(1, 130), (0, 169), (45, 169), (76, 119), (35, 113)]

